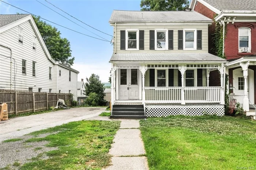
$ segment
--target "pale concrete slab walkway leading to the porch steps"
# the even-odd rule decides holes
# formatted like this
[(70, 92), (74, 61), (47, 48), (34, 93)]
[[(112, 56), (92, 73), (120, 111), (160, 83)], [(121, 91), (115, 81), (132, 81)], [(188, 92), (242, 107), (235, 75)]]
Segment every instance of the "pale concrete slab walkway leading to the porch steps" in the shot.
[(112, 165), (105, 170), (148, 170), (139, 120), (121, 120), (109, 154)]

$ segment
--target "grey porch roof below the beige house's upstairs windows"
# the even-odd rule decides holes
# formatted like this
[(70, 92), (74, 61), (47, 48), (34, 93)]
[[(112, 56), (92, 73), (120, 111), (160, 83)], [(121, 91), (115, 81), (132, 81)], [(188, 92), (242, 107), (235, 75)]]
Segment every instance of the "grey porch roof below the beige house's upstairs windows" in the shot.
[(226, 62), (210, 53), (121, 53), (113, 54), (110, 62)]

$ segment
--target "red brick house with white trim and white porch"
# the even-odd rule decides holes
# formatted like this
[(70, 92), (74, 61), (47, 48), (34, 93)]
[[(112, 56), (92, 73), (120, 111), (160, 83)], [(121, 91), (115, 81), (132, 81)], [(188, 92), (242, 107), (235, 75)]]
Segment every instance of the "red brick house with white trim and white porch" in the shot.
[[(256, 104), (256, 2), (255, 0), (191, 0), (189, 8), (224, 24), (223, 55), (229, 75), (230, 105), (240, 103), (246, 115)], [(215, 24), (208, 28), (209, 52)], [(253, 109), (253, 112), (250, 110)]]

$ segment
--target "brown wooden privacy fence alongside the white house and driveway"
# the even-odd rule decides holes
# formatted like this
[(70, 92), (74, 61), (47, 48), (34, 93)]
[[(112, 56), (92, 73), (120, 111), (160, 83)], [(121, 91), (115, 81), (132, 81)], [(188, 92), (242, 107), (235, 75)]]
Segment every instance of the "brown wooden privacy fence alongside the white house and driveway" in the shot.
[(48, 110), (56, 107), (58, 99), (71, 105), (72, 94), (0, 90), (0, 103), (7, 103), (8, 115)]

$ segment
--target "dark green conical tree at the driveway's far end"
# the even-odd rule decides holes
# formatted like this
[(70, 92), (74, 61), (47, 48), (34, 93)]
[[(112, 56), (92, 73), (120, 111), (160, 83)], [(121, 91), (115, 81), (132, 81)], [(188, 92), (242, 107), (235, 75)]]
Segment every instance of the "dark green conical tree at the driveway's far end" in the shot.
[[(104, 90), (104, 84), (99, 80), (98, 75), (91, 74), (90, 78), (86, 78), (84, 93), (89, 97), (93, 95), (93, 98), (97, 98), (97, 100), (99, 100), (97, 102), (99, 105), (103, 105), (106, 103), (106, 101), (103, 99)], [(95, 94), (93, 93), (97, 94), (97, 97), (95, 97)]]

